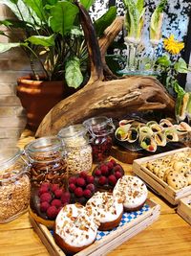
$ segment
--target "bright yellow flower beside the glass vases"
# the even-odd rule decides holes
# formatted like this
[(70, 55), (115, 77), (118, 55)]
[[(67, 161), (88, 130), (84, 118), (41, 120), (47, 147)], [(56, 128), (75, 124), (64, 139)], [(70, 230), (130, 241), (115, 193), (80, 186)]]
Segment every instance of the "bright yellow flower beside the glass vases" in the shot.
[(170, 35), (168, 38), (163, 39), (163, 43), (165, 50), (172, 55), (180, 54), (180, 51), (184, 47), (183, 42), (175, 40), (175, 35)]

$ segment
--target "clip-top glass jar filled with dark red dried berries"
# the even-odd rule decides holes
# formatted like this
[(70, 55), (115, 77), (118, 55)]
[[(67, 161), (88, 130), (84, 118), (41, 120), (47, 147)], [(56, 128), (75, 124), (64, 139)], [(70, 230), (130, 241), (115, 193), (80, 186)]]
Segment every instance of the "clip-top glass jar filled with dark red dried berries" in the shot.
[(94, 163), (104, 161), (112, 150), (115, 130), (113, 120), (105, 116), (97, 116), (84, 121), (83, 125), (90, 132)]

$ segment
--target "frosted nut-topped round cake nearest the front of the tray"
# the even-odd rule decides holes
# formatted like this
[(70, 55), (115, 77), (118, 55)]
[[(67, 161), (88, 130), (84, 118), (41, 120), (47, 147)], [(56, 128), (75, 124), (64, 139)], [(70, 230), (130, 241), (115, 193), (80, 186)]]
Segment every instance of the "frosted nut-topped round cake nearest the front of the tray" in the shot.
[(80, 204), (64, 206), (55, 219), (54, 240), (63, 251), (74, 254), (96, 240), (98, 223), (91, 209)]

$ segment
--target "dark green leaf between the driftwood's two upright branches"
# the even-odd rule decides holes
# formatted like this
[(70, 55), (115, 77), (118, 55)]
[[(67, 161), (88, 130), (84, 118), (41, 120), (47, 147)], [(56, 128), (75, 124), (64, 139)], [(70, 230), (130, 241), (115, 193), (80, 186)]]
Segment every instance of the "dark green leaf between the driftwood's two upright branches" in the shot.
[(112, 22), (115, 20), (117, 16), (117, 8), (116, 7), (110, 7), (108, 12), (103, 14), (99, 19), (95, 22), (95, 29), (96, 29), (96, 35), (99, 37), (103, 35), (103, 32), (105, 29), (112, 24)]

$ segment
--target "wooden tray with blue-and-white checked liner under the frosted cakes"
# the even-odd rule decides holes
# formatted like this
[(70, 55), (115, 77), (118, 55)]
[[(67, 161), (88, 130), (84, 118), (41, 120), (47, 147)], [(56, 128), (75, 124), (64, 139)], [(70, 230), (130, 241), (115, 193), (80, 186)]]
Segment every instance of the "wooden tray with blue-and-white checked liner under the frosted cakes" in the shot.
[[(151, 199), (147, 199), (141, 210), (123, 214), (122, 221), (114, 230), (104, 232), (98, 231), (96, 242), (75, 255), (106, 255), (119, 244), (122, 244), (134, 237), (154, 221), (157, 221), (159, 218), (159, 212), (159, 204)], [(50, 231), (46, 226), (34, 221), (32, 218), (31, 221), (35, 232), (52, 256), (66, 255), (62, 249), (55, 244), (52, 231)]]

